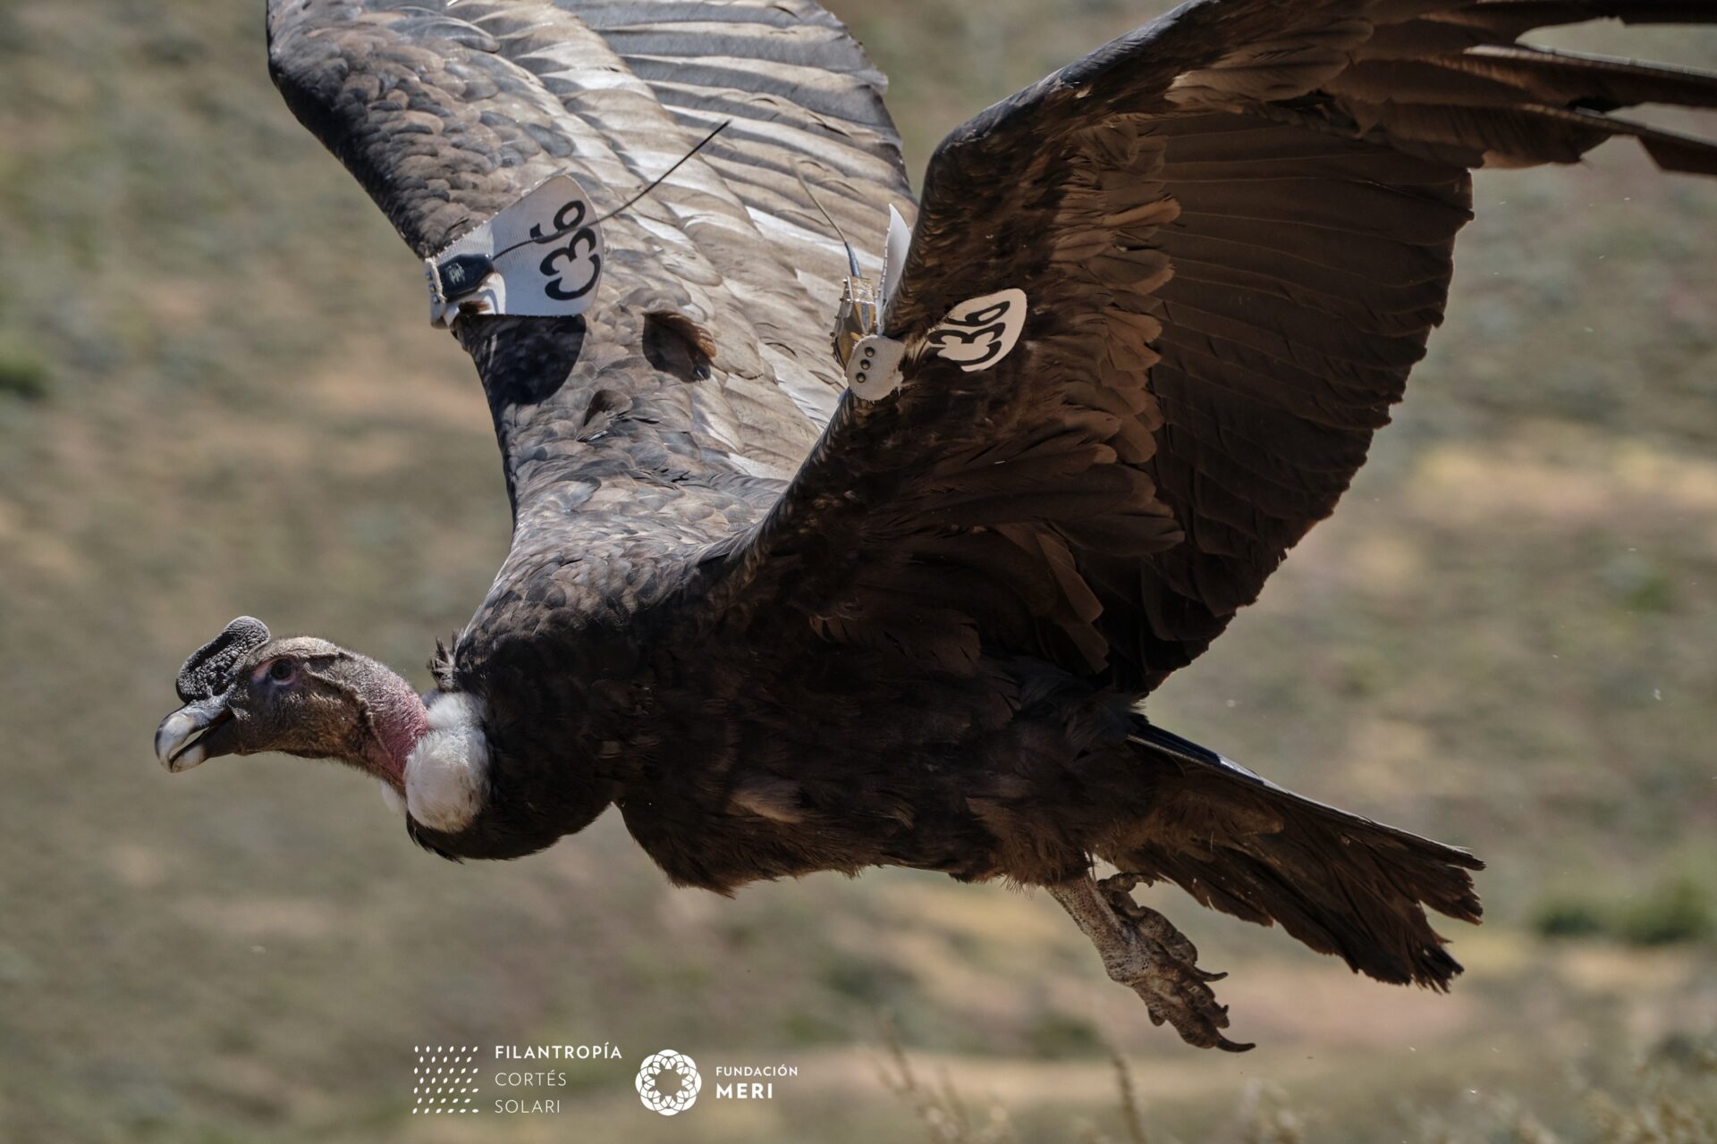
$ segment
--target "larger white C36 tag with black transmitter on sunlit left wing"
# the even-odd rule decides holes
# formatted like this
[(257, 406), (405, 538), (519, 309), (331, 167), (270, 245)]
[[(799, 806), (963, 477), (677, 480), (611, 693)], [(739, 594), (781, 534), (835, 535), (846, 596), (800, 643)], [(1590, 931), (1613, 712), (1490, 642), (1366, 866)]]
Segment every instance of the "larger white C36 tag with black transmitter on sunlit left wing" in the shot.
[(603, 230), (570, 175), (539, 184), (433, 259), (429, 321), (452, 326), (460, 307), (482, 314), (572, 317), (596, 300)]

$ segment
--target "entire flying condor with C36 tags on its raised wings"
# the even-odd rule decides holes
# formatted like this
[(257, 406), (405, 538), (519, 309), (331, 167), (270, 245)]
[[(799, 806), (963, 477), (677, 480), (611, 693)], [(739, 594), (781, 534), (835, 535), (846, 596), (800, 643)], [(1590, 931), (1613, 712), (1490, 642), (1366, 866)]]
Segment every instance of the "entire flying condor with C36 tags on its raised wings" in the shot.
[(1600, 17), (1717, 3), (1195, 0), (955, 130), (913, 202), (883, 75), (809, 0), (273, 0), (275, 82), (476, 360), (512, 551), (431, 695), (244, 617), (156, 753), (343, 760), (450, 858), (613, 804), (721, 894), (1044, 887), (1200, 1046), (1245, 1048), (1140, 883), (1446, 988), (1425, 911), (1478, 919), (1475, 858), (1142, 701), (1363, 463), (1471, 168), (1631, 135), (1717, 173), (1614, 115), (1717, 106), (1717, 77), (1518, 41)]

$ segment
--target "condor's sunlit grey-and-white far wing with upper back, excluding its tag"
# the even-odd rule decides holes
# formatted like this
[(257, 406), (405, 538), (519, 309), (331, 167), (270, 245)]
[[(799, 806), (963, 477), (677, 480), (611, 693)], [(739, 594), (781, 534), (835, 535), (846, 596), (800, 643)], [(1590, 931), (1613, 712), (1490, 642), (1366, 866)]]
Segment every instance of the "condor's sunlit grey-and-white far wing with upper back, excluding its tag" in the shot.
[(603, 225), (584, 314), (453, 328), (513, 539), (441, 677), (484, 679), (496, 719), (532, 726), (510, 705), (541, 686), (513, 681), (568, 667), (567, 633), (673, 595), (833, 412), (846, 259), (795, 168), (881, 250), (888, 204), (912, 211), (884, 81), (810, 0), (270, 0), (268, 33), (292, 111), (419, 256), (555, 175), (613, 211), (731, 120)]

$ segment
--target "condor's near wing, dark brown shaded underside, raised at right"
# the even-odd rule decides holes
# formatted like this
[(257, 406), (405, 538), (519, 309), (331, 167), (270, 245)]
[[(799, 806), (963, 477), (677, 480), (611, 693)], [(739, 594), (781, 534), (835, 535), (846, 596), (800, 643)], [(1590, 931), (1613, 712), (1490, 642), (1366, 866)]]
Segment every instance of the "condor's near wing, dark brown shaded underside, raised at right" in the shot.
[(1514, 41), (1597, 17), (1717, 3), (1195, 0), (955, 130), (884, 319), (901, 388), (841, 403), (716, 605), (759, 641), (1156, 686), (1363, 463), (1442, 319), (1470, 168), (1633, 135), (1717, 173), (1611, 115), (1717, 106), (1712, 75)]

